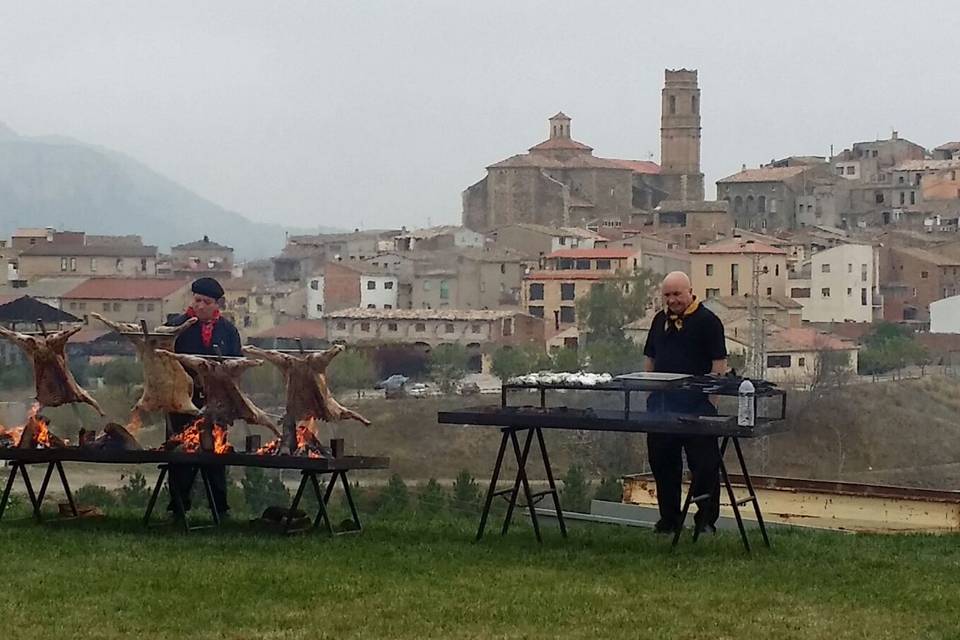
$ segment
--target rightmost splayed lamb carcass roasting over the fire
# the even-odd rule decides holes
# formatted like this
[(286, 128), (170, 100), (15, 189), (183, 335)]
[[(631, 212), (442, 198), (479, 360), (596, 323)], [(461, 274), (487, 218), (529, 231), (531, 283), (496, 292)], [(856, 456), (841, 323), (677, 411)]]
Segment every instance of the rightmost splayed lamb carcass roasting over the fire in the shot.
[(337, 402), (327, 386), (327, 366), (343, 347), (337, 345), (326, 351), (293, 354), (244, 347), (244, 353), (267, 360), (283, 373), (287, 385), (287, 419), (295, 422), (319, 418), (321, 420), (357, 420), (365, 425), (370, 421)]

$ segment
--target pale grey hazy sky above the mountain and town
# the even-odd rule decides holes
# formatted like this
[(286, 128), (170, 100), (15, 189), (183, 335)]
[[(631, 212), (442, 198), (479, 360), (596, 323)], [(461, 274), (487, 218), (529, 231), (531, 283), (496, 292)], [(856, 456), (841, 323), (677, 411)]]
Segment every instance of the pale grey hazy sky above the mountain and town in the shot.
[(708, 193), (891, 128), (960, 139), (958, 34), (957, 0), (0, 0), (0, 121), (258, 220), (438, 224), (558, 110), (596, 155), (659, 159), (665, 67), (700, 71)]

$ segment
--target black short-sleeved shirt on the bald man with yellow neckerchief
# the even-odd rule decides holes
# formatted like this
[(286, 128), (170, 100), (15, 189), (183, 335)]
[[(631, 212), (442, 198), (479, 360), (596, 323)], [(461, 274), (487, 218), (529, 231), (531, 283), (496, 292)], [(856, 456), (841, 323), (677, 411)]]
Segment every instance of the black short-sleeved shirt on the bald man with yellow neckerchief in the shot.
[[(683, 318), (683, 328), (666, 327), (667, 313), (660, 311), (653, 318), (643, 355), (653, 359), (653, 370), (661, 373), (689, 373), (706, 375), (714, 360), (727, 357), (723, 322), (702, 304)], [(652, 393), (647, 408), (651, 411), (713, 413), (707, 396), (697, 392)]]

